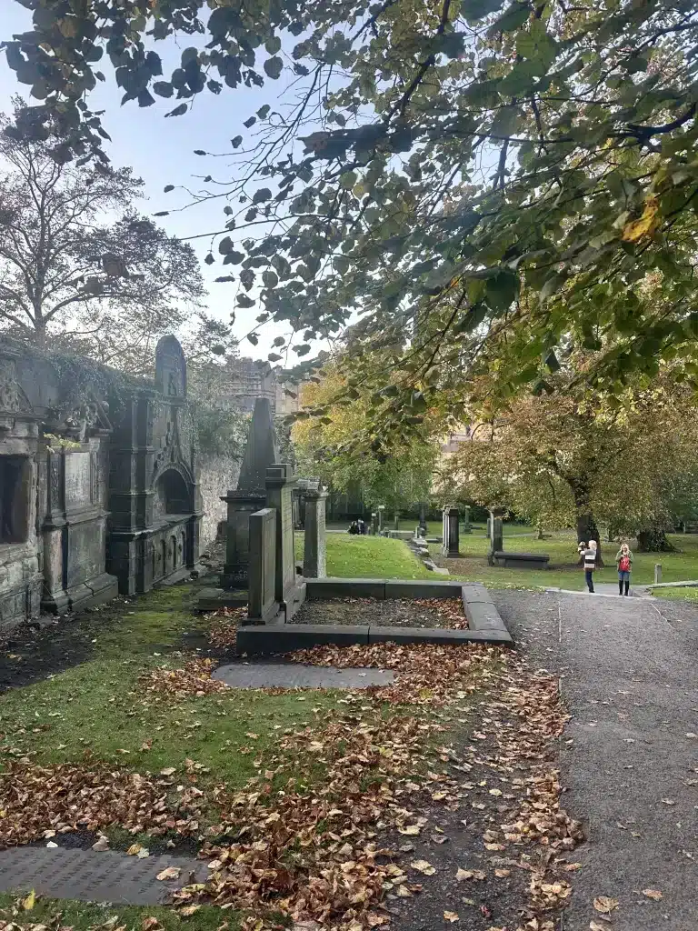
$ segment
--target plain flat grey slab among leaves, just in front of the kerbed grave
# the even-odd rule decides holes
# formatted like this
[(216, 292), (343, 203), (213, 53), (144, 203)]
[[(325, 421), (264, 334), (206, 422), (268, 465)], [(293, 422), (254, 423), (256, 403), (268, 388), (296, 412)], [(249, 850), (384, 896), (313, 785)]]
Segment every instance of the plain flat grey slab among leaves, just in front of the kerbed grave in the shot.
[(366, 689), (390, 685), (395, 673), (389, 669), (307, 666), (304, 663), (229, 663), (213, 673), (235, 689)]

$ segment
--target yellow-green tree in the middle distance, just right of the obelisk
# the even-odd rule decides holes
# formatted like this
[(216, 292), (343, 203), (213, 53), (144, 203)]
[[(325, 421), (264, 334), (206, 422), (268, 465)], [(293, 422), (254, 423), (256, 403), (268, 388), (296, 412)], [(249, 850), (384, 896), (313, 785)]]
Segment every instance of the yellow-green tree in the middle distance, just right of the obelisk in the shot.
[[(385, 505), (388, 511), (400, 511), (425, 501), (436, 467), (436, 443), (424, 430), (386, 454), (379, 438), (367, 437), (368, 397), (359, 394), (349, 406), (333, 405), (344, 385), (342, 375), (330, 363), (317, 382), (302, 386), (302, 406), (307, 410), (297, 415), (292, 429), (300, 473), (318, 476), (340, 492), (358, 487), (369, 507)], [(314, 416), (317, 406), (327, 413)]]

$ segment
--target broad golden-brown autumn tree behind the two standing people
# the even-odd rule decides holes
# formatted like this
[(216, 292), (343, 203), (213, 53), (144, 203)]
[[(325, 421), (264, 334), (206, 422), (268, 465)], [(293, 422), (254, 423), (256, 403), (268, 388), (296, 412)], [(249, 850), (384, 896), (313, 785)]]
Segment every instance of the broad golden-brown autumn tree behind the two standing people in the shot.
[(477, 427), (447, 464), (450, 482), (479, 504), (505, 506), (548, 527), (596, 539), (598, 521), (669, 548), (671, 502), (698, 454), (690, 386), (667, 373), (624, 398), (575, 391), (576, 372), (551, 377), (549, 393), (523, 394)]

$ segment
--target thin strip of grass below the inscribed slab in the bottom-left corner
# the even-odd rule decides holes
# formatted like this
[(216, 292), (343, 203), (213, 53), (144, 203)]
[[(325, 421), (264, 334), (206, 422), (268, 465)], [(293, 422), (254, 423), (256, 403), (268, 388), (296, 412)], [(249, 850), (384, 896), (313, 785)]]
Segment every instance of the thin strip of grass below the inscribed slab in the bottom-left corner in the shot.
[[(26, 895), (22, 896), (26, 899)], [(0, 919), (14, 924), (45, 924), (53, 927), (54, 920), (60, 916), (60, 925), (72, 927), (74, 931), (88, 931), (112, 921), (112, 927), (126, 925), (128, 931), (141, 931), (142, 923), (146, 918), (156, 918), (165, 928), (165, 931), (216, 931), (225, 920), (229, 922), (230, 931), (239, 927), (240, 915), (235, 911), (221, 911), (212, 906), (204, 905), (188, 918), (181, 916), (173, 909), (157, 905), (97, 905), (92, 902), (76, 902), (73, 900), (36, 897), (34, 908), (24, 911), (21, 906), (18, 913), (13, 914), (13, 906), (18, 897), (11, 893), (0, 893)], [(116, 921), (114, 921), (114, 918)], [(59, 921), (55, 922), (58, 926)]]

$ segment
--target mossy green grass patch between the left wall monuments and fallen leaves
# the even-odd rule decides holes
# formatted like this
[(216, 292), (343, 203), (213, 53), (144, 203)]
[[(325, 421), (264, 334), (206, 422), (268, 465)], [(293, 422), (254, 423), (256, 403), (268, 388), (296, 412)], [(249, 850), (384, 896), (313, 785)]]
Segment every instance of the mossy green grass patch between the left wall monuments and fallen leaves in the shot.
[[(38, 763), (80, 762), (88, 749), (98, 760), (141, 773), (180, 768), (189, 758), (208, 767), (213, 781), (244, 785), (279, 729), (312, 718), (312, 708), (336, 698), (317, 693), (309, 707), (296, 695), (231, 690), (153, 701), (140, 677), (157, 667), (181, 667), (185, 656), (162, 651), (206, 623), (190, 613), (191, 597), (191, 587), (173, 587), (89, 615), (92, 654), (86, 662), (0, 695), (0, 747), (31, 749)], [(152, 749), (141, 749), (150, 740)]]

